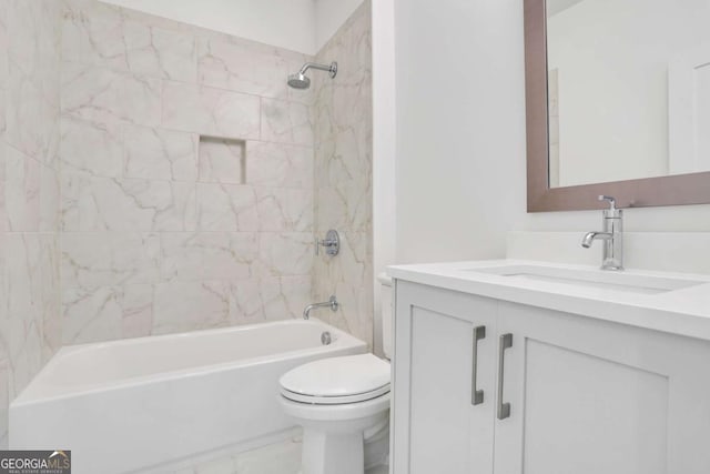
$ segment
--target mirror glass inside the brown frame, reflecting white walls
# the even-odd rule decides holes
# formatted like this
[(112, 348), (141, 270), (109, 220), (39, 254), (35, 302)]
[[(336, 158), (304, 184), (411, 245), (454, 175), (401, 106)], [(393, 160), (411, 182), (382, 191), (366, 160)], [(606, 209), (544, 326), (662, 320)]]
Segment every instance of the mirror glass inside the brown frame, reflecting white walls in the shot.
[(547, 0), (550, 188), (710, 171), (710, 0)]

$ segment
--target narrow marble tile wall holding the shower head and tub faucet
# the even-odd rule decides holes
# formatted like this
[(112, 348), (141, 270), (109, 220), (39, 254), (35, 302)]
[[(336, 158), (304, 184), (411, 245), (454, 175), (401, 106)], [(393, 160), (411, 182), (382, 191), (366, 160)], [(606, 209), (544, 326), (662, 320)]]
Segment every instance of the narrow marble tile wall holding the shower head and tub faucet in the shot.
[(338, 62), (335, 79), (314, 74), (315, 230), (336, 229), (339, 255), (318, 258), (314, 299), (336, 294), (337, 313), (328, 320), (373, 343), (372, 229), (372, 28), (369, 0), (353, 13), (317, 53), (316, 61)]

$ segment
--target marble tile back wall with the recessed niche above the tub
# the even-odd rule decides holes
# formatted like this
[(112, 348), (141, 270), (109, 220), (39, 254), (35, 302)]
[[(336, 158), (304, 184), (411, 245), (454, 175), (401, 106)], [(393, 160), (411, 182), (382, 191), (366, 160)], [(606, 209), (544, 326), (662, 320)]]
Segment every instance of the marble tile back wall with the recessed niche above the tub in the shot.
[(298, 316), (314, 264), (313, 92), (286, 77), (312, 58), (62, 4), (62, 342)]

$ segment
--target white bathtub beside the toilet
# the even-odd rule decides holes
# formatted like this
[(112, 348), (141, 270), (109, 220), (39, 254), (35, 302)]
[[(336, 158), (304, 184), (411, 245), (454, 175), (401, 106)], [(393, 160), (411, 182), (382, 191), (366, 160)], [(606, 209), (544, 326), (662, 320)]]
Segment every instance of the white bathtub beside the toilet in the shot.
[(277, 403), (284, 372), (366, 350), (314, 319), (65, 346), (10, 405), (10, 446), (72, 450), (74, 474), (255, 447), (294, 428)]

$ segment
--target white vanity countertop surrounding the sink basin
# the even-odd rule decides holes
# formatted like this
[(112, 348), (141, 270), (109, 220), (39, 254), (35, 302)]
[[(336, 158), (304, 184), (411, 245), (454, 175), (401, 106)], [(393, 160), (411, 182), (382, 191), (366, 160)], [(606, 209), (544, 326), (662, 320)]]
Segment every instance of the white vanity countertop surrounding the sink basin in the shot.
[(506, 265), (602, 272), (598, 268), (586, 265), (524, 260), (484, 260), (394, 265), (387, 269), (387, 273), (396, 280), (710, 341), (710, 275), (625, 271), (629, 275), (701, 282), (681, 290), (640, 294), (577, 284), (517, 280), (475, 271), (477, 268)]

